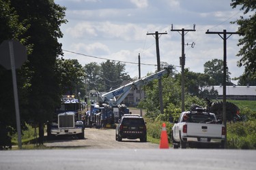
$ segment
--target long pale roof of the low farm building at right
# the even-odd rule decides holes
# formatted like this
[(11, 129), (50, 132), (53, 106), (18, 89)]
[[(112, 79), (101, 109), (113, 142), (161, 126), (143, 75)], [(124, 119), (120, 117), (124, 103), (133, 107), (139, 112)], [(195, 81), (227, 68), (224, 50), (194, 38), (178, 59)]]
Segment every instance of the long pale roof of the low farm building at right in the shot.
[[(213, 87), (214, 90), (218, 90), (218, 95), (223, 95), (223, 86)], [(212, 86), (210, 88), (212, 88)], [(226, 95), (256, 96), (256, 86), (226, 86)]]

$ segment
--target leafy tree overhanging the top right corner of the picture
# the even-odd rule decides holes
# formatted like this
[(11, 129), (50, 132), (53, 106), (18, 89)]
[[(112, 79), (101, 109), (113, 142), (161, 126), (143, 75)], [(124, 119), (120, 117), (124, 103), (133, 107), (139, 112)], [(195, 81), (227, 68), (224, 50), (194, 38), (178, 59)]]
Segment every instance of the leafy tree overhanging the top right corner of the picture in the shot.
[(237, 54), (237, 56), (241, 57), (240, 61), (238, 61), (238, 66), (244, 65), (245, 76), (252, 73), (253, 77), (256, 77), (256, 14), (253, 12), (256, 8), (256, 3), (253, 0), (231, 0), (231, 7), (240, 7), (240, 10), (244, 11), (244, 15), (252, 13), (248, 18), (240, 16), (240, 19), (231, 23), (239, 25), (238, 32), (242, 35), (238, 42), (238, 46), (242, 46)]

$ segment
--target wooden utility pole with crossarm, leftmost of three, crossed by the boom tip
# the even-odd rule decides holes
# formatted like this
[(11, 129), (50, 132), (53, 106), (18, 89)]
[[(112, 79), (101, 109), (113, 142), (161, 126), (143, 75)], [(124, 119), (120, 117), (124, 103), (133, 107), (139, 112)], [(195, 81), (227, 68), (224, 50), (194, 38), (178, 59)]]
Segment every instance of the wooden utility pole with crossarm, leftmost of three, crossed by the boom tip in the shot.
[[(167, 33), (147, 33), (147, 35), (156, 35), (156, 59), (157, 59), (157, 71), (161, 71), (160, 69), (160, 52), (159, 52), (159, 35), (167, 34)], [(160, 101), (160, 113), (164, 114), (164, 107), (162, 104), (162, 78), (158, 79), (158, 88), (159, 88), (159, 101)]]

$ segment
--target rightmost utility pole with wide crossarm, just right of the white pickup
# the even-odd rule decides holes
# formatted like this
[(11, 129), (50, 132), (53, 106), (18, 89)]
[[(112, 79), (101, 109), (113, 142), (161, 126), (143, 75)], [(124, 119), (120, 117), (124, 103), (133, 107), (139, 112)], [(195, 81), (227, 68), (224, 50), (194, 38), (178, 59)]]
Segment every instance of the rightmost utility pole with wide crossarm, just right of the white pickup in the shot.
[[(227, 82), (227, 39), (232, 34), (239, 34), (236, 32), (227, 32), (223, 29), (223, 32), (205, 32), (205, 34), (218, 34), (223, 39), (223, 124), (227, 131), (227, 110), (226, 110), (226, 82)], [(221, 36), (223, 35), (223, 37)], [(229, 35), (227, 37), (227, 35)], [(227, 134), (225, 135), (225, 148), (227, 148)]]

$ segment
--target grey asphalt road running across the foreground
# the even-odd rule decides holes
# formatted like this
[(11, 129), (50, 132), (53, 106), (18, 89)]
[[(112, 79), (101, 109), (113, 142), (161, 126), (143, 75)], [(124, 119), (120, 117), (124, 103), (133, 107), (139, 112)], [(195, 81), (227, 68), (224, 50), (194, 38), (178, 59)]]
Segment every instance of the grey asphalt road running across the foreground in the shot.
[(255, 150), (59, 149), (0, 152), (0, 169), (255, 169)]

